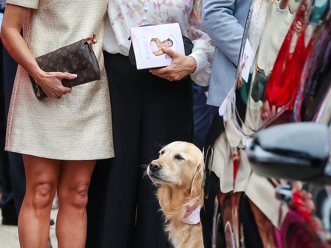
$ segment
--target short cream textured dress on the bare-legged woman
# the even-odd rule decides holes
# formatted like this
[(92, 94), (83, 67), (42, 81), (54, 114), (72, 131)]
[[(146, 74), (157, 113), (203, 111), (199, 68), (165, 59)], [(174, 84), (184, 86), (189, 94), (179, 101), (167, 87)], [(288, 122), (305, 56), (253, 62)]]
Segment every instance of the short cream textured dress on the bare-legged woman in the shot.
[(34, 57), (96, 34), (101, 79), (61, 99), (38, 100), (18, 66), (10, 103), (6, 150), (60, 160), (114, 156), (111, 106), (102, 52), (108, 0), (7, 0), (31, 8), (23, 36)]

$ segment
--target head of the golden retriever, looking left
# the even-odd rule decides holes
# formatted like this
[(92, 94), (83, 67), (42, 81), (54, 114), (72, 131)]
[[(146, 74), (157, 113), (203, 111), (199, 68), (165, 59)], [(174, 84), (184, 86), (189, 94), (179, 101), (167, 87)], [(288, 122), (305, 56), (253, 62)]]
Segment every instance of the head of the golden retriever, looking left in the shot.
[(202, 152), (193, 144), (173, 142), (160, 151), (152, 161), (147, 174), (157, 185), (179, 186), (191, 191), (191, 196), (201, 194), (205, 163)]

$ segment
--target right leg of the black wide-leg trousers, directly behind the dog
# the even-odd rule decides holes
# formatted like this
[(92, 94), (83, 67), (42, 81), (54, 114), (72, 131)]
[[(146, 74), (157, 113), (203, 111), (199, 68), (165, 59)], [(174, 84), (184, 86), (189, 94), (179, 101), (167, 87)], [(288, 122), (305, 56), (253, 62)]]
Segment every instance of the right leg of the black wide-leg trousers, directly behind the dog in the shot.
[[(190, 79), (169, 82), (149, 75), (145, 82), (142, 112), (140, 163), (148, 164), (158, 157), (159, 144), (192, 141), (193, 95)], [(135, 246), (141, 248), (171, 247), (164, 233), (162, 212), (155, 196), (156, 187), (145, 168), (138, 174), (138, 209)]]

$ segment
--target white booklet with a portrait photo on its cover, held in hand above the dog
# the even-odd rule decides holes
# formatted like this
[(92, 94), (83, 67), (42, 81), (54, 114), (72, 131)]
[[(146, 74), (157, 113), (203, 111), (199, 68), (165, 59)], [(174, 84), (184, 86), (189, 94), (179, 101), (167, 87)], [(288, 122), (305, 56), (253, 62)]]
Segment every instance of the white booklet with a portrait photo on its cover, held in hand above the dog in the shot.
[(185, 54), (178, 23), (133, 27), (130, 32), (138, 70), (170, 65), (172, 58), (163, 47)]

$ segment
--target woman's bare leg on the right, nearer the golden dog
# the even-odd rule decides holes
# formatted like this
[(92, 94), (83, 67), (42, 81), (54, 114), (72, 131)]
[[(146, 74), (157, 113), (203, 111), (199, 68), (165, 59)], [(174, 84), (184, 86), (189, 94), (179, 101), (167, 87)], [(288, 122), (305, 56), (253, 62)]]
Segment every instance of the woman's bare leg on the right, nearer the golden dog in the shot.
[(87, 191), (96, 161), (62, 161), (56, 234), (59, 248), (84, 248)]

